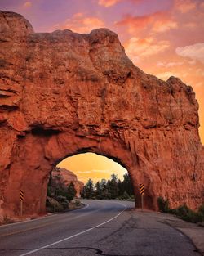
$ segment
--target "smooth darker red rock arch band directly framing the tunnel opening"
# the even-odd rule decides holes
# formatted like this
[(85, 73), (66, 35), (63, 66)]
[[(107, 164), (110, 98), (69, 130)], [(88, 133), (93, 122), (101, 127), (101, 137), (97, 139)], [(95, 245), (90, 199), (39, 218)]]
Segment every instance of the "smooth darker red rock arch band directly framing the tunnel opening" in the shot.
[[(66, 157), (79, 153), (92, 152), (104, 155), (122, 164), (131, 176), (135, 188), (136, 206), (140, 206), (139, 187), (144, 182), (145, 206), (149, 209), (157, 208), (157, 197), (153, 194), (151, 177), (140, 169), (138, 156), (131, 154), (125, 145), (109, 137), (78, 137), (70, 132), (59, 132), (40, 129), (18, 141), (18, 155), (10, 166), (7, 189), (4, 191), (4, 207), (9, 216), (20, 213), (19, 193), (24, 191), (24, 213), (45, 213), (47, 196), (47, 182), (49, 173)], [(53, 133), (54, 134), (53, 134)], [(145, 167), (143, 167), (145, 168)]]

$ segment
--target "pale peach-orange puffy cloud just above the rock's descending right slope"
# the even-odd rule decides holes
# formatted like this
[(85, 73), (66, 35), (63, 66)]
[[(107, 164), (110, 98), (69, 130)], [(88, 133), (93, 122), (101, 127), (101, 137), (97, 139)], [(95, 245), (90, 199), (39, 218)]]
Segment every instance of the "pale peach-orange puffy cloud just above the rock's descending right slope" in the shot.
[(153, 38), (131, 38), (125, 43), (126, 54), (134, 62), (139, 61), (140, 57), (157, 55), (164, 52), (170, 43), (168, 41), (155, 41)]

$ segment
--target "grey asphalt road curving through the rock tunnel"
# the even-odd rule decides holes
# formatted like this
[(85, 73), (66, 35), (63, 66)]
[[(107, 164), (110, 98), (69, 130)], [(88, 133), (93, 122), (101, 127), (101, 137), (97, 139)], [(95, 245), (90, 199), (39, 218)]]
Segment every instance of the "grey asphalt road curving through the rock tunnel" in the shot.
[(131, 202), (83, 202), (83, 209), (0, 227), (0, 255), (200, 255), (157, 213), (135, 212)]

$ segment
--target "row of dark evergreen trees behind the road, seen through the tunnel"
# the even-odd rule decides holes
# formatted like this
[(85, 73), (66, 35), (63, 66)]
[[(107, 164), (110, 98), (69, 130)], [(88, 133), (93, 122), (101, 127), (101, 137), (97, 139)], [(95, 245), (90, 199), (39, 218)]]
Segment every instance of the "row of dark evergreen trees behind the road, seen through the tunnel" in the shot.
[(121, 199), (126, 200), (134, 198), (133, 186), (131, 184), (131, 177), (128, 173), (123, 175), (124, 179), (121, 181), (115, 174), (106, 181), (102, 178), (99, 182), (94, 183), (91, 179), (86, 182), (83, 187), (82, 198), (86, 199)]

